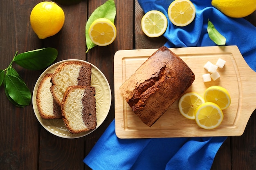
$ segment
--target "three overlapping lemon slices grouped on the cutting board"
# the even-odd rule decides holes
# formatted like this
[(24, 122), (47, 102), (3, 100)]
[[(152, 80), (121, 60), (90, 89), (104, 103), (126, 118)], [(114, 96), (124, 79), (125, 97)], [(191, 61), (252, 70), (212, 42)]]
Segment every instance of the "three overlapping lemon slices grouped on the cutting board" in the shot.
[(225, 88), (211, 86), (206, 89), (203, 98), (197, 93), (185, 93), (178, 107), (184, 117), (195, 119), (201, 128), (213, 129), (221, 124), (224, 117), (222, 110), (230, 104), (230, 95)]

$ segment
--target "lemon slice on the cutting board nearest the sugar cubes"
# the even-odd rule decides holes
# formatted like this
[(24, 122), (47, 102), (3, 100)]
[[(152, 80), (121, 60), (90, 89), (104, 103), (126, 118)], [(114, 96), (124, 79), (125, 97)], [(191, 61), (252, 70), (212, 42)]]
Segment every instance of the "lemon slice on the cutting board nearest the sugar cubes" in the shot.
[(222, 110), (229, 107), (231, 103), (228, 91), (221, 86), (211, 86), (204, 92), (205, 102), (213, 102), (220, 106)]

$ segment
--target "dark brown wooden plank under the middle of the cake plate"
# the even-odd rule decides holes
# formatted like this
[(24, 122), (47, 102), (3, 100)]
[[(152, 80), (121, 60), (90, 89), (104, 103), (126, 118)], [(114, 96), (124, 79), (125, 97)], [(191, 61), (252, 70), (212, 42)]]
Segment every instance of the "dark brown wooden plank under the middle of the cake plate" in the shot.
[[(43, 40), (43, 46), (58, 50), (56, 62), (66, 59), (85, 60), (87, 2), (60, 6), (65, 13), (63, 28), (56, 35)], [(39, 169), (83, 170), (84, 139), (56, 137), (40, 126)]]

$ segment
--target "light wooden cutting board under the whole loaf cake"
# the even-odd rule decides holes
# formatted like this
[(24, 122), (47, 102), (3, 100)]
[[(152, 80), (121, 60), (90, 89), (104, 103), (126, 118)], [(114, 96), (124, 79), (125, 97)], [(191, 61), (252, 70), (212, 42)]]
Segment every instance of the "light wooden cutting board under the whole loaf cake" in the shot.
[[(200, 95), (210, 86), (222, 86), (231, 96), (229, 108), (223, 110), (222, 124), (213, 130), (197, 126), (195, 120), (186, 119), (178, 109), (176, 101), (153, 126), (146, 126), (133, 113), (121, 96), (119, 87), (146, 61), (157, 49), (122, 50), (114, 57), (115, 82), (115, 131), (119, 138), (156, 137), (209, 137), (242, 135), (247, 121), (256, 108), (256, 73), (247, 65), (237, 46), (207, 46), (170, 49), (195, 73), (195, 81), (186, 92)], [(204, 83), (202, 75), (208, 73), (204, 64), (216, 64), (221, 58), (226, 61), (218, 68), (220, 78)], [(161, 106), (159, 106), (161, 107)]]

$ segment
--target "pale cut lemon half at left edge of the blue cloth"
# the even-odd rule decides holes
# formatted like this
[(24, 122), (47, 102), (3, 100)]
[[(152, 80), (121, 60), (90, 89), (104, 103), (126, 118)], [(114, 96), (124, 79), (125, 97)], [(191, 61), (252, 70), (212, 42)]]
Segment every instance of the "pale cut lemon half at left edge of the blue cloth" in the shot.
[(141, 29), (148, 37), (159, 37), (167, 28), (166, 16), (156, 10), (148, 11), (141, 19)]

